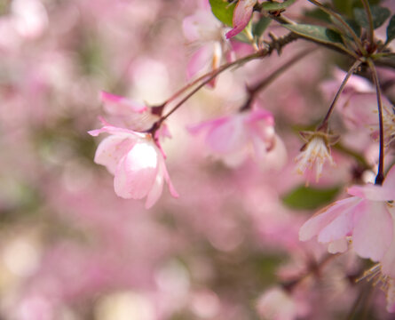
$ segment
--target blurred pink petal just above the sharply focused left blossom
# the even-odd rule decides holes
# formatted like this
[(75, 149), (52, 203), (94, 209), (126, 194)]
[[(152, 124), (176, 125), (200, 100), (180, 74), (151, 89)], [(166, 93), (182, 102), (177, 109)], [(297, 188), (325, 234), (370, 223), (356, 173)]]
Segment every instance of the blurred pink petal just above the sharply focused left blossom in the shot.
[(107, 113), (116, 116), (127, 116), (132, 112), (142, 113), (147, 110), (144, 105), (108, 92), (100, 92), (100, 99)]

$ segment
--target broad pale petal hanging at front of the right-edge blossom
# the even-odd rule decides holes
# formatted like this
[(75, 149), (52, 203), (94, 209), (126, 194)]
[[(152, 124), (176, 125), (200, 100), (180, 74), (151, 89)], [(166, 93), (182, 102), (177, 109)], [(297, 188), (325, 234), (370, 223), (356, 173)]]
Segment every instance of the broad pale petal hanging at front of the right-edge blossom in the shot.
[(366, 201), (367, 208), (358, 212), (352, 244), (355, 252), (362, 258), (378, 261), (383, 259), (392, 239), (391, 214), (381, 202)]

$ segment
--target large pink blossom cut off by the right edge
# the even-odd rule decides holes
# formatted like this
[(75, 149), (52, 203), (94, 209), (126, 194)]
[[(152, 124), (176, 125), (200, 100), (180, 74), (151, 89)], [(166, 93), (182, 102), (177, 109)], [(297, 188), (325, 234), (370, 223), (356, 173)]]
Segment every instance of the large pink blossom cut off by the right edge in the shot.
[(307, 220), (299, 232), (302, 241), (317, 236), (329, 252), (344, 252), (347, 241), (362, 258), (381, 263), (383, 275), (395, 277), (395, 166), (383, 186), (367, 184), (347, 189), (351, 195)]

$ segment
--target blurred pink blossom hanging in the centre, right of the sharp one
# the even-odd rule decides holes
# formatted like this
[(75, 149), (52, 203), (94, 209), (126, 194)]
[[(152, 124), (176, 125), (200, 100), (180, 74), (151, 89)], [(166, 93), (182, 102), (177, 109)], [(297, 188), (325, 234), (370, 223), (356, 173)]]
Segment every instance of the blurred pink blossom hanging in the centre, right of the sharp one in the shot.
[(274, 133), (273, 115), (262, 108), (209, 120), (190, 127), (189, 131), (205, 132), (211, 152), (229, 166), (242, 164), (251, 154), (265, 161), (269, 152), (281, 147), (276, 143), (280, 139)]

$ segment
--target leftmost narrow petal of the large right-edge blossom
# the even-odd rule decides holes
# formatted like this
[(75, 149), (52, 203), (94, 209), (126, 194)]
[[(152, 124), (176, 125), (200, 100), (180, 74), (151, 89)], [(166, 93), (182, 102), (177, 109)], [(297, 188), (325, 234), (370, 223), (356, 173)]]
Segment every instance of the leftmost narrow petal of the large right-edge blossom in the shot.
[(352, 196), (328, 205), (320, 212), (317, 212), (311, 219), (304, 222), (304, 225), (299, 230), (299, 239), (301, 241), (307, 241), (313, 236), (317, 236), (330, 222), (335, 220), (348, 208), (358, 204), (359, 201), (359, 198)]

